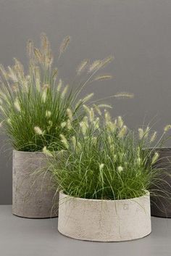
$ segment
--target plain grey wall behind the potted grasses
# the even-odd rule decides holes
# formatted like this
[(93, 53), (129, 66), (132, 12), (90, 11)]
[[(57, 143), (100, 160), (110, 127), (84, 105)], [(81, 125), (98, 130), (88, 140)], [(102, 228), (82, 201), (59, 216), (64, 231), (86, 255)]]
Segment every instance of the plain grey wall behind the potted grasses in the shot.
[[(0, 0), (0, 62), (26, 64), (25, 43), (39, 43), (41, 32), (54, 54), (66, 35), (70, 48), (60, 62), (60, 76), (70, 82), (84, 58), (114, 54), (105, 70), (114, 80), (94, 84), (96, 97), (130, 91), (135, 99), (110, 100), (112, 115), (122, 115), (131, 128), (155, 117), (154, 128), (171, 123), (170, 0)], [(157, 122), (156, 122), (157, 121)], [(12, 150), (1, 136), (0, 204), (12, 203)], [(4, 146), (5, 145), (5, 146)]]

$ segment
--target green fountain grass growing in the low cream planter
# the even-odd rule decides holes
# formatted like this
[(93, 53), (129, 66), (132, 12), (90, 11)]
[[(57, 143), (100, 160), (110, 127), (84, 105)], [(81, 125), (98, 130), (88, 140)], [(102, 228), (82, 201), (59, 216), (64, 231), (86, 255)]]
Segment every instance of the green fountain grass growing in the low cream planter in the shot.
[(155, 146), (150, 152), (144, 148), (159, 145), (157, 133), (149, 127), (135, 133), (122, 117), (112, 120), (107, 110), (103, 117), (98, 108), (85, 109), (87, 115), (75, 136), (68, 140), (61, 135), (67, 154), (63, 151), (60, 162), (54, 155), (51, 163), (57, 190), (86, 199), (131, 199), (143, 196), (146, 190), (156, 194), (161, 169), (154, 164), (159, 154)]

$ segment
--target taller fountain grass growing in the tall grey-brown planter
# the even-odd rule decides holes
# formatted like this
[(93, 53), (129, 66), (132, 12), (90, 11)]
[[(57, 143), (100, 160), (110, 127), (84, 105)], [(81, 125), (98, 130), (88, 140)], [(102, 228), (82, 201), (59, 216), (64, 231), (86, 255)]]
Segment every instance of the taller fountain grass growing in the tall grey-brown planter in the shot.
[[(67, 36), (59, 46), (58, 61), (70, 43)], [(85, 115), (83, 104), (90, 102), (93, 93), (80, 99), (80, 92), (94, 80), (107, 80), (111, 75), (98, 75), (113, 57), (90, 62), (84, 59), (76, 70), (71, 86), (64, 85), (59, 70), (53, 67), (54, 57), (45, 34), (41, 47), (28, 41), (28, 72), (14, 59), (12, 67), (0, 66), (0, 119), (14, 149), (25, 152), (42, 151), (43, 147), (55, 151), (63, 149), (59, 135), (67, 139)], [(116, 94), (116, 97), (132, 96)], [(99, 106), (100, 107), (100, 106)], [(54, 143), (55, 141), (55, 143)]]

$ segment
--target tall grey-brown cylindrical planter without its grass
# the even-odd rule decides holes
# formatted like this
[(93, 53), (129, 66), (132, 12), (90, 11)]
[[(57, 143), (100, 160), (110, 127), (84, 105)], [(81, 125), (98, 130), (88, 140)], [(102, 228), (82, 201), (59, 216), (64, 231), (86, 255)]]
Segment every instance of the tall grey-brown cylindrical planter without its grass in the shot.
[(58, 215), (58, 195), (41, 152), (13, 151), (12, 213), (24, 218)]

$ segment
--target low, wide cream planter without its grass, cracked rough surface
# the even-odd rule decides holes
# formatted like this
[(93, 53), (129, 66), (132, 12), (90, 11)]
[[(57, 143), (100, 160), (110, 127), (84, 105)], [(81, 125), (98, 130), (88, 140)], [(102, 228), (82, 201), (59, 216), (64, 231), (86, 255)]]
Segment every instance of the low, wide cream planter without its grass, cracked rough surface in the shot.
[(70, 197), (59, 192), (61, 234), (89, 241), (128, 241), (151, 233), (149, 192), (125, 200)]

